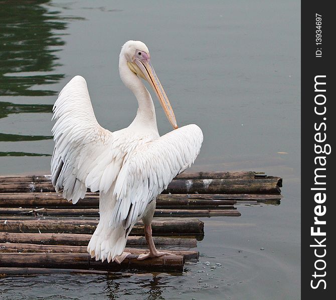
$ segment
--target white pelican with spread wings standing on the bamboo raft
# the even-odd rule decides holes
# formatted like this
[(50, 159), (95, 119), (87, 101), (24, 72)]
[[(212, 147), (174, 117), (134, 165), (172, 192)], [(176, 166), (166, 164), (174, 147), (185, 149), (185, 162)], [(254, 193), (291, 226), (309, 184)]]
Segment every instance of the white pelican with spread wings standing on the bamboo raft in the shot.
[[(87, 188), (99, 190), (100, 219), (87, 250), (91, 257), (120, 263), (127, 236), (142, 219), (149, 252), (138, 259), (170, 255), (155, 248), (151, 221), (156, 196), (200, 152), (203, 133), (195, 124), (178, 127), (172, 106), (150, 62), (147, 46), (129, 40), (121, 48), (119, 73), (135, 95), (138, 109), (124, 129), (109, 131), (93, 112), (86, 81), (73, 77), (53, 107), (55, 147), (51, 160), (55, 190), (75, 204)], [(142, 79), (148, 81), (174, 130), (159, 135), (155, 109)]]

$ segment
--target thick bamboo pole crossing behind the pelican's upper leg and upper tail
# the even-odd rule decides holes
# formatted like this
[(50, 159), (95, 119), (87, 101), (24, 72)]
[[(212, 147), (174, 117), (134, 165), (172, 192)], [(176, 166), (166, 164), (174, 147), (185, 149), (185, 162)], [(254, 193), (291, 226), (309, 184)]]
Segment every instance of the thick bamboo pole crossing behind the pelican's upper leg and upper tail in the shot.
[[(98, 220), (6, 220), (0, 221), (0, 231), (29, 233), (82, 233), (93, 234)], [(151, 223), (153, 235), (162, 234), (202, 234), (204, 222), (197, 219), (157, 220)], [(143, 235), (143, 223), (137, 222), (131, 235)]]

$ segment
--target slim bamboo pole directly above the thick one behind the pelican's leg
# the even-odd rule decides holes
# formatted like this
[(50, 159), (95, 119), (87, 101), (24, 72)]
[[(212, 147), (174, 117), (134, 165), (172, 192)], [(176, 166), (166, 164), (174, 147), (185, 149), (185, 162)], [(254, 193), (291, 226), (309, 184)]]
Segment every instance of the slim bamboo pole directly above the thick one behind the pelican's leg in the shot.
[[(154, 216), (209, 216), (209, 215), (228, 215), (239, 216), (240, 212), (233, 209), (155, 209)], [(48, 216), (99, 216), (98, 208), (14, 208), (0, 207), (0, 214), (31, 214)]]

